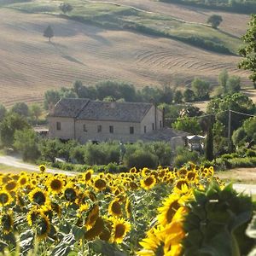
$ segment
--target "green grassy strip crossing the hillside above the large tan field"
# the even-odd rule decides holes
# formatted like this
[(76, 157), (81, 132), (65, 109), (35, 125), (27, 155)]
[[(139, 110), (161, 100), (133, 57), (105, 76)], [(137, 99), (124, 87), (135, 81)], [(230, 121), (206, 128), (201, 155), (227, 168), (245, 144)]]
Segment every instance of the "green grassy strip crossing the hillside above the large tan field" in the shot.
[[(181, 40), (212, 51), (236, 54), (241, 41), (227, 33), (204, 24), (178, 20), (171, 15), (161, 15), (116, 3), (90, 3), (83, 0), (66, 1), (73, 11), (67, 17), (97, 26), (129, 29), (160, 37)], [(10, 4), (10, 8), (32, 13), (59, 14), (59, 1), (33, 1)]]

